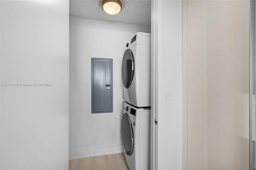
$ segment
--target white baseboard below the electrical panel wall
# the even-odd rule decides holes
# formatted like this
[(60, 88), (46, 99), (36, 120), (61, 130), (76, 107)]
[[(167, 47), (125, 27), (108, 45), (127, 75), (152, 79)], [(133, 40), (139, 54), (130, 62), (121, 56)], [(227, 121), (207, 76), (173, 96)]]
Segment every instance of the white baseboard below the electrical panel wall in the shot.
[(107, 154), (117, 154), (121, 152), (123, 152), (123, 145), (70, 150), (69, 159), (71, 160), (71, 159), (87, 158), (87, 157), (107, 155)]

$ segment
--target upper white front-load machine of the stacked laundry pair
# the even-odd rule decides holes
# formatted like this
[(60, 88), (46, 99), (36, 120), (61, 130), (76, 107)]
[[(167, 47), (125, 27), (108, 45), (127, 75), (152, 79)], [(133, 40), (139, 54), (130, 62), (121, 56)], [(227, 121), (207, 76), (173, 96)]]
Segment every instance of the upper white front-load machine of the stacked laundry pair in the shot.
[(138, 32), (126, 43), (122, 61), (124, 100), (136, 107), (150, 106), (151, 34)]

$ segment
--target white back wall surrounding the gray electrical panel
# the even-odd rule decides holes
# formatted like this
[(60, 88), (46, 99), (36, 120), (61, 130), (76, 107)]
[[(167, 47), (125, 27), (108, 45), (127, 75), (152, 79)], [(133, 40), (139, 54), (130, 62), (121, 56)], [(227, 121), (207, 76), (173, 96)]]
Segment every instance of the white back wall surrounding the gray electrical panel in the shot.
[[(126, 42), (150, 26), (70, 17), (70, 159), (122, 152)], [(91, 114), (91, 57), (113, 58), (113, 113)]]

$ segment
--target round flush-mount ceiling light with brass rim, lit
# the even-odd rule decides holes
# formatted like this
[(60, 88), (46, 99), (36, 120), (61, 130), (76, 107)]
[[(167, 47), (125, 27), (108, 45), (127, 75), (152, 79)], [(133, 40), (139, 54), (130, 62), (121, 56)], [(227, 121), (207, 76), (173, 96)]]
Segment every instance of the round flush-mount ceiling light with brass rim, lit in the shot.
[(122, 3), (120, 0), (103, 0), (102, 8), (110, 15), (115, 15), (122, 9)]

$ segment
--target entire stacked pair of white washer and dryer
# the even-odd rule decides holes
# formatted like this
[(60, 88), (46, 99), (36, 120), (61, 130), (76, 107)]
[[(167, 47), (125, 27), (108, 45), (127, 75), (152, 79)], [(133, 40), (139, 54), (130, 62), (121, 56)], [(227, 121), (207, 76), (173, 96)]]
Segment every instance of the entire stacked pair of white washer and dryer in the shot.
[(130, 170), (150, 169), (150, 39), (138, 32), (126, 43), (122, 61), (122, 142)]

